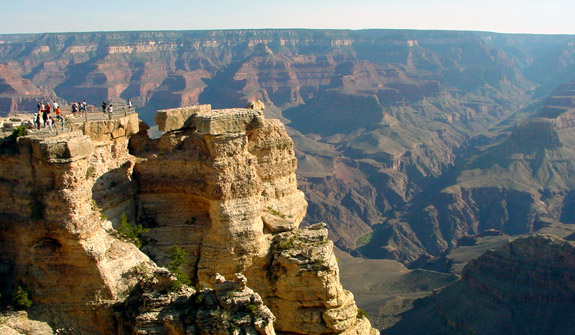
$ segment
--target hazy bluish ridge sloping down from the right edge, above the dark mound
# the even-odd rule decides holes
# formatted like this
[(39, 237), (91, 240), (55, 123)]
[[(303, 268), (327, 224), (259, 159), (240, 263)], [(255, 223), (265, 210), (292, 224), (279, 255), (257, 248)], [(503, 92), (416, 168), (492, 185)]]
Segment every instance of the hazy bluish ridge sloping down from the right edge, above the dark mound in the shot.
[(537, 117), (522, 120), (505, 140), (468, 159), (451, 185), (412, 213), (411, 227), (429, 252), (438, 255), (487, 229), (519, 235), (537, 231), (542, 220), (570, 223), (572, 87), (559, 86)]

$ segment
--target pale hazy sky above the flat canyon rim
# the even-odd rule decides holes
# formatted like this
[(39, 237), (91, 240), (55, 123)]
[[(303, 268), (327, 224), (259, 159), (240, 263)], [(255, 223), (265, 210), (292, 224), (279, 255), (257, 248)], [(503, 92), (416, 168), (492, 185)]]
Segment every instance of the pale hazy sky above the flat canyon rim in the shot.
[(573, 0), (0, 0), (0, 34), (420, 29), (575, 34)]

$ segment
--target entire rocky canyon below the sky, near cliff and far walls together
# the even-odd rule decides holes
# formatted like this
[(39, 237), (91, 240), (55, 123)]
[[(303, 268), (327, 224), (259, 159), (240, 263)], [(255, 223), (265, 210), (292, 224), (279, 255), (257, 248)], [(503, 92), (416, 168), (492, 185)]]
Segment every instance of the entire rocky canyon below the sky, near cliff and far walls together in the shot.
[[(72, 286), (95, 271), (86, 265), (95, 259), (98, 271), (114, 268), (110, 276), (122, 281), (95, 275), (62, 293), (66, 304), (43, 298), (58, 288), (31, 284), (49, 306), (39, 314), (96, 315), (107, 320), (97, 324), (121, 323), (126, 332), (213, 332), (217, 325), (197, 316), (239, 312), (242, 327), (263, 333), (270, 324), (278, 333), (367, 333), (336, 284), (333, 240), (358, 257), (343, 262), (340, 254), (344, 271), (366, 265), (354, 273), (374, 291), (354, 278), (346, 287), (362, 292), (355, 301), (369, 303), (371, 324), (385, 333), (529, 330), (505, 328), (497, 312), (545, 333), (546, 322), (559, 322), (553, 311), (567, 315), (569, 302), (555, 298), (571, 285), (561, 277), (545, 296), (537, 281), (569, 266), (545, 267), (545, 255), (572, 258), (560, 238), (575, 223), (574, 46), (570, 35), (415, 30), (0, 35), (1, 115), (35, 111), (37, 101), (58, 101), (67, 113), (83, 99), (92, 111), (101, 101), (122, 110), (130, 99), (140, 119), (158, 124), (147, 129), (135, 116), (89, 123), (69, 139), (22, 138), (6, 152), (7, 285), (46, 273)], [(263, 104), (242, 108), (254, 101)], [(37, 180), (14, 186), (30, 175)], [(143, 252), (113, 236), (83, 240), (113, 235), (122, 213), (149, 229)], [(30, 217), (39, 221), (11, 230)], [(194, 288), (164, 296), (174, 278), (157, 266), (169, 264), (173, 245), (189, 255)], [(33, 265), (53, 256), (21, 256), (26, 248), (93, 253), (85, 262), (47, 261), (66, 269), (66, 283)], [(506, 268), (528, 268), (536, 282), (515, 282)], [(317, 274), (323, 281), (307, 282)], [(375, 301), (384, 286), (387, 300)], [(412, 290), (407, 300), (401, 287)], [(86, 300), (107, 305), (88, 310)], [(540, 324), (512, 318), (531, 311)], [(570, 327), (564, 319), (558, 333)]]

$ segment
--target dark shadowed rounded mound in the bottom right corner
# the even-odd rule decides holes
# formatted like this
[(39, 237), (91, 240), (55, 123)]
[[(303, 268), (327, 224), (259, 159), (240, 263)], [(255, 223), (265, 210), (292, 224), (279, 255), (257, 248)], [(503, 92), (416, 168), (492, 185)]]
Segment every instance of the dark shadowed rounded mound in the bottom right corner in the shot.
[(575, 248), (551, 235), (508, 242), (420, 300), (386, 334), (565, 334), (575, 325)]

